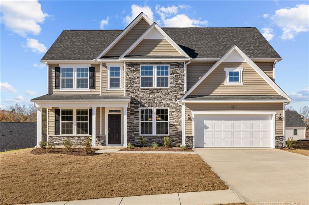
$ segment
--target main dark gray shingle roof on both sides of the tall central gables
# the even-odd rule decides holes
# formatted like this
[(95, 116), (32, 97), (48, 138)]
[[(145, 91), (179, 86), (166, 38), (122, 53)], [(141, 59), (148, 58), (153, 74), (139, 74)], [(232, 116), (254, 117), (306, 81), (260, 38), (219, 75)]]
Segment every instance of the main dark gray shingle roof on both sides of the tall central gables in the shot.
[[(234, 44), (250, 58), (280, 58), (256, 27), (162, 29), (192, 58), (221, 58)], [(64, 30), (42, 60), (92, 60), (121, 31)]]

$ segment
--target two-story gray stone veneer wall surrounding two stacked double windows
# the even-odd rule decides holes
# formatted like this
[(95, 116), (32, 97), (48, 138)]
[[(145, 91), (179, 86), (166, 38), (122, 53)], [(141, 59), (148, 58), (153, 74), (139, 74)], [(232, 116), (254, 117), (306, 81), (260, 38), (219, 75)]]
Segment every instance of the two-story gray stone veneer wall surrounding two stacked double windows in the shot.
[[(169, 64), (170, 88), (140, 88), (140, 64)], [(169, 108), (169, 136), (171, 146), (181, 145), (181, 106), (177, 104), (184, 95), (184, 63), (126, 63), (125, 95), (132, 96), (128, 108), (127, 141), (133, 146), (140, 145), (139, 108), (164, 107)], [(163, 136), (144, 136), (147, 145), (156, 142), (163, 143)]]

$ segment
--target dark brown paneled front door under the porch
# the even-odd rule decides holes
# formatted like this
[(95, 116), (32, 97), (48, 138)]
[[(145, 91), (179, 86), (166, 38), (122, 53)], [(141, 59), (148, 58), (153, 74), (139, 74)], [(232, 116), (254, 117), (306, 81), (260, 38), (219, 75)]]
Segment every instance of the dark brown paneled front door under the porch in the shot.
[(108, 144), (121, 144), (121, 115), (108, 115)]

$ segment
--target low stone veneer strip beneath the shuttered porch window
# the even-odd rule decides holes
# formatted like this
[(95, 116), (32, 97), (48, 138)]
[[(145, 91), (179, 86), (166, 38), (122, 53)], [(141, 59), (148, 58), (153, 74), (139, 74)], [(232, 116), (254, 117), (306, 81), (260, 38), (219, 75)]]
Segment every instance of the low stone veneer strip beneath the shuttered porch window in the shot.
[[(63, 142), (69, 138), (72, 145), (84, 146), (85, 140), (87, 137), (90, 138), (90, 143), (92, 144), (92, 136), (62, 136), (62, 135), (53, 135), (48, 136), (48, 141), (54, 146), (63, 146)], [(105, 139), (105, 138), (104, 138)], [(96, 138), (96, 146), (101, 146), (100, 137)]]

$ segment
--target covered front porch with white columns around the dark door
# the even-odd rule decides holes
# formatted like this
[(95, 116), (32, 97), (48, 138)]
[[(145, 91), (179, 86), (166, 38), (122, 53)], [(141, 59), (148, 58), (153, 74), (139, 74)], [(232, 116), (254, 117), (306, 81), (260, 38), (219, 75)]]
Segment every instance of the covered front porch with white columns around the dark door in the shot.
[(66, 100), (50, 99), (54, 96), (39, 97), (43, 100), (33, 99), (37, 110), (37, 146), (42, 140), (42, 109), (46, 108), (47, 141), (55, 146), (63, 146), (67, 138), (73, 145), (83, 146), (90, 137), (93, 147), (126, 147), (127, 109), (131, 97), (87, 96), (98, 97), (101, 99), (75, 100), (73, 96)]

